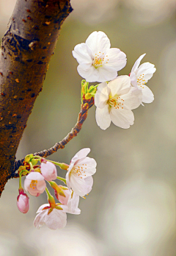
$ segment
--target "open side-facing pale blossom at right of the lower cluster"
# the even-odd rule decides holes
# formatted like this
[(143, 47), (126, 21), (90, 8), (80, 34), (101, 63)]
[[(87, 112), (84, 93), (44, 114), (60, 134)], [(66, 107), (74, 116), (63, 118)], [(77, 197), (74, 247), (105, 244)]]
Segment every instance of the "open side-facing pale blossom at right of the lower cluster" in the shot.
[(67, 187), (72, 188), (78, 196), (85, 196), (92, 190), (92, 175), (95, 174), (97, 163), (93, 158), (87, 157), (89, 152), (90, 149), (81, 149), (76, 153), (66, 174)]

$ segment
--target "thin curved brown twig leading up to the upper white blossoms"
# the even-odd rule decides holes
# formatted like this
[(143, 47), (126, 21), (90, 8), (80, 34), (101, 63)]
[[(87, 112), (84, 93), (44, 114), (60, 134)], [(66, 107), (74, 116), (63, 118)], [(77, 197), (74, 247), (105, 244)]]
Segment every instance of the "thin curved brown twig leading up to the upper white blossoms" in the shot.
[[(43, 150), (41, 152), (34, 153), (34, 155), (39, 155), (40, 157), (48, 157), (51, 154), (54, 154), (58, 149), (64, 149), (65, 145), (74, 137), (78, 135), (78, 132), (80, 132), (81, 127), (84, 123), (84, 121), (87, 118), (87, 112), (90, 107), (94, 104), (94, 98), (92, 97), (89, 100), (84, 99), (83, 104), (81, 104), (81, 110), (78, 114), (78, 120), (76, 122), (76, 125), (71, 129), (71, 131), (67, 134), (65, 138), (63, 138), (62, 141), (57, 142), (53, 147), (51, 147), (48, 150)], [(18, 177), (18, 174), (15, 174), (15, 171), (18, 170), (20, 166), (23, 165), (24, 158), (18, 161), (15, 161), (14, 170), (12, 171), (11, 177)]]

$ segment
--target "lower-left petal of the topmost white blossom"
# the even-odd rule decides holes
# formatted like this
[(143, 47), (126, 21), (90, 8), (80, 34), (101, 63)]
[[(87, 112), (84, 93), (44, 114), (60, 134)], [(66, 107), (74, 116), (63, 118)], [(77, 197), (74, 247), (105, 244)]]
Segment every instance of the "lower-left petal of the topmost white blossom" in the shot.
[(86, 79), (87, 82), (99, 82), (98, 81), (98, 70), (93, 66), (87, 65), (87, 68), (85, 68), (85, 65), (78, 65), (78, 74)]

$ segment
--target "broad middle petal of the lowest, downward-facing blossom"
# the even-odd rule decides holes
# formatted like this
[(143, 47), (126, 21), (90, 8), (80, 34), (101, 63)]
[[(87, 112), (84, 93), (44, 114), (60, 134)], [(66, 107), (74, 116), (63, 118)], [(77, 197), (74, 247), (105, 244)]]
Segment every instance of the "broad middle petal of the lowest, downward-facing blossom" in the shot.
[(45, 216), (45, 224), (51, 230), (62, 229), (67, 224), (67, 215), (62, 210), (54, 210)]

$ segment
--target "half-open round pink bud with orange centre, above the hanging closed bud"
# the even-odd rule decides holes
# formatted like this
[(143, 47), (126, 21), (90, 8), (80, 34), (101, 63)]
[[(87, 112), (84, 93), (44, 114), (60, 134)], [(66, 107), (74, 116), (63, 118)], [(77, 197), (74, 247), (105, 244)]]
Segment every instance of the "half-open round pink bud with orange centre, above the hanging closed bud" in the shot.
[(40, 193), (45, 191), (45, 179), (42, 174), (37, 171), (32, 171), (26, 175), (24, 180), (24, 189), (32, 196), (40, 196)]

